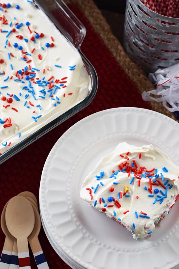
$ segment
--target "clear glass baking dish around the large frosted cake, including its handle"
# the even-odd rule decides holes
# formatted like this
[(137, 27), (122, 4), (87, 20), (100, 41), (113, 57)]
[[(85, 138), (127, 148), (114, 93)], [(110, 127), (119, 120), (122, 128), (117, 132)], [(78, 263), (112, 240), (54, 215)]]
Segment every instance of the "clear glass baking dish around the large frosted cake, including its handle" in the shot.
[(33, 143), (42, 135), (46, 134), (60, 123), (64, 122), (86, 106), (95, 97), (97, 88), (98, 88), (98, 77), (96, 71), (92, 64), (81, 52), (81, 44), (86, 35), (86, 28), (81, 24), (77, 17), (72, 13), (72, 11), (67, 7), (67, 5), (62, 0), (35, 0), (37, 8), (43, 10), (43, 12), (49, 17), (53, 22), (55, 27), (67, 38), (67, 40), (78, 50), (81, 58), (84, 62), (84, 66), (90, 77), (90, 86), (89, 94), (87, 97), (82, 100), (80, 103), (70, 108), (64, 114), (60, 115), (56, 119), (52, 120), (50, 123), (43, 126), (41, 129), (34, 132), (29, 137), (25, 138), (11, 149), (7, 150), (0, 155), (0, 164), (6, 161), (8, 158), (15, 155), (21, 149)]

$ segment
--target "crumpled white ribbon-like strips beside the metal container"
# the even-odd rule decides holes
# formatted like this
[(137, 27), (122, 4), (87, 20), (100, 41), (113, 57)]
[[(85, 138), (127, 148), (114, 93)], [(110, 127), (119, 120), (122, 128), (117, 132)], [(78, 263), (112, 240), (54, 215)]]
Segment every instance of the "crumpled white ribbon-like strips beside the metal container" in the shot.
[[(144, 91), (143, 100), (162, 102), (169, 111), (179, 111), (179, 64), (150, 73), (149, 80), (156, 85), (156, 90)], [(160, 97), (152, 97), (151, 94), (160, 95)], [(167, 106), (167, 103), (171, 108)]]

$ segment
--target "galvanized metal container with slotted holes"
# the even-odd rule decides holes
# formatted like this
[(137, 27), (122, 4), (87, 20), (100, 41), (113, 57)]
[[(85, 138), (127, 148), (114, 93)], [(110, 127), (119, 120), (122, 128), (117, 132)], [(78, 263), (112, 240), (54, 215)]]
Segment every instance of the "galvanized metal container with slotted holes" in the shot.
[(160, 15), (140, 0), (127, 0), (124, 48), (146, 73), (179, 62), (179, 18)]

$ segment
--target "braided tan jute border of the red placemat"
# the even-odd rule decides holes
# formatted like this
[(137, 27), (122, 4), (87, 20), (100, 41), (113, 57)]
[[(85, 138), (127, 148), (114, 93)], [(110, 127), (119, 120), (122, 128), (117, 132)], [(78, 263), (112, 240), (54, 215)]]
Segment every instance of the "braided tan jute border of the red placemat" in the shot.
[[(118, 64), (130, 77), (130, 80), (137, 86), (139, 92), (155, 89), (154, 85), (148, 80), (145, 73), (132, 62), (129, 56), (124, 52), (124, 48), (118, 39), (113, 35), (106, 19), (92, 0), (66, 0), (67, 4), (77, 5), (85, 17), (89, 20), (95, 32), (99, 34), (104, 44), (115, 57)], [(119, 25), (120, 27), (120, 25)], [(162, 102), (149, 101), (153, 110), (165, 114), (176, 120), (175, 115), (163, 107)]]

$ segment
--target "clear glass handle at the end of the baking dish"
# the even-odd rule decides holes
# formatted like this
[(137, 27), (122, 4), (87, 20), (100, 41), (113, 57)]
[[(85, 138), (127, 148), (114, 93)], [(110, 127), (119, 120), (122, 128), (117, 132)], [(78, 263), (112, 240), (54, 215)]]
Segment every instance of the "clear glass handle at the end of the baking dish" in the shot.
[[(86, 35), (86, 28), (62, 0), (34, 0), (37, 7), (53, 21), (58, 30), (79, 48)], [(38, 5), (39, 4), (39, 5)]]

